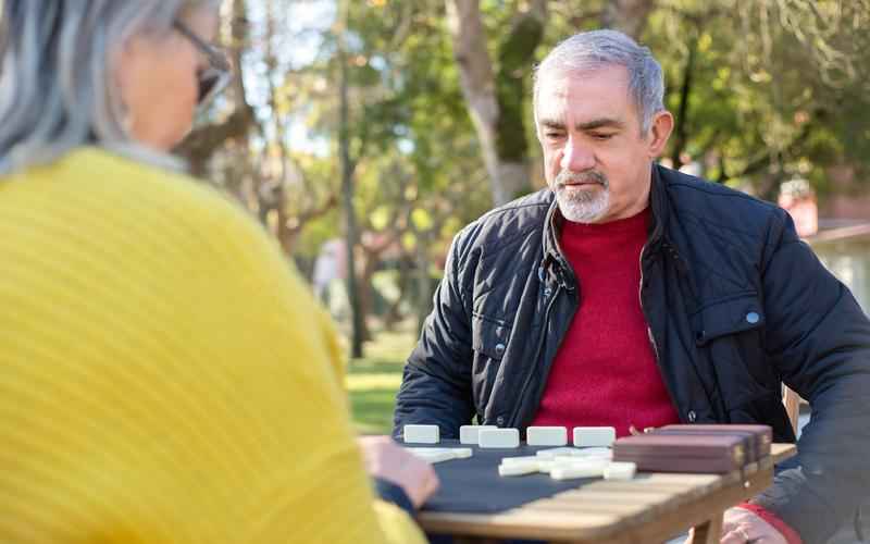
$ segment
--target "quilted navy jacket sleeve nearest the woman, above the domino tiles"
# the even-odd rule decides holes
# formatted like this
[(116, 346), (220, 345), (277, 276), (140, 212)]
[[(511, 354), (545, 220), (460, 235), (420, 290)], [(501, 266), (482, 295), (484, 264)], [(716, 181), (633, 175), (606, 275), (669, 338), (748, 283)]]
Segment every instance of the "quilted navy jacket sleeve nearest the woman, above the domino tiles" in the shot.
[(405, 367), (396, 399), (396, 437), (403, 425), (419, 423), (437, 424), (442, 437), (456, 438), (459, 426), (470, 423), (474, 413), (471, 310), (464, 302), (468, 294), (463, 292), (458, 257), (463, 233), (453, 239), (434, 308)]

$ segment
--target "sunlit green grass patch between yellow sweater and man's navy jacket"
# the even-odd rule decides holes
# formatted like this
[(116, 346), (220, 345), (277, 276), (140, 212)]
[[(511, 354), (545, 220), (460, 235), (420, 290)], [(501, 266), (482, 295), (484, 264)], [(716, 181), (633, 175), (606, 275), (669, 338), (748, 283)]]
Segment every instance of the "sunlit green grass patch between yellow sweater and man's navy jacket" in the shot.
[(357, 430), (364, 434), (389, 434), (401, 370), (417, 337), (402, 327), (374, 333), (374, 338), (365, 345), (365, 357), (350, 361), (346, 384)]

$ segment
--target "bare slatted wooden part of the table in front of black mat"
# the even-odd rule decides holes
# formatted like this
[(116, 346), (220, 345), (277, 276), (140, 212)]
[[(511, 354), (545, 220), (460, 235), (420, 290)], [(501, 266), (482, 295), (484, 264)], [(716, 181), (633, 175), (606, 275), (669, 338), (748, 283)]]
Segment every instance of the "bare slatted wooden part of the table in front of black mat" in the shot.
[(771, 455), (729, 474), (639, 473), (629, 482), (599, 480), (582, 489), (500, 514), (420, 514), (433, 533), (533, 539), (575, 544), (664, 542), (695, 528), (695, 544), (719, 543), (722, 514), (773, 481), (773, 465), (797, 453), (773, 444)]

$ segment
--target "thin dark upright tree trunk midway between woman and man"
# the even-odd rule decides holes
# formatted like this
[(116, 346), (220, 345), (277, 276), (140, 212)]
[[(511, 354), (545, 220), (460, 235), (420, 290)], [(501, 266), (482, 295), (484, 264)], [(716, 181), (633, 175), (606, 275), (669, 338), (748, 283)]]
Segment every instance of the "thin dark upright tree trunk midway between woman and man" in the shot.
[[(349, 1), (349, 0), (346, 0)], [(357, 218), (353, 211), (353, 163), (350, 159), (350, 113), (348, 104), (348, 59), (345, 52), (345, 36), (347, 33), (347, 4), (343, 7), (344, 22), (338, 39), (339, 62), (339, 131), (338, 148), (341, 169), (341, 197), (345, 212), (345, 246), (347, 247), (347, 294), (350, 301), (351, 338), (350, 356), (362, 357), (363, 316), (360, 312), (359, 292), (357, 289), (357, 267), (355, 249), (359, 239), (357, 233)]]

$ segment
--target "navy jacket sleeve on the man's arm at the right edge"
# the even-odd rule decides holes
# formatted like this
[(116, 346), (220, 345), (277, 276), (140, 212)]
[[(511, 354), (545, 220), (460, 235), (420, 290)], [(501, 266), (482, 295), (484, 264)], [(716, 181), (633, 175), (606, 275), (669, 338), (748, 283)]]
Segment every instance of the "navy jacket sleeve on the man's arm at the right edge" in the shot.
[(753, 502), (821, 543), (870, 495), (870, 322), (780, 213), (761, 271), (766, 349), (812, 415), (794, 466)]

